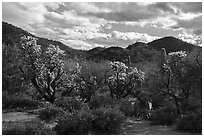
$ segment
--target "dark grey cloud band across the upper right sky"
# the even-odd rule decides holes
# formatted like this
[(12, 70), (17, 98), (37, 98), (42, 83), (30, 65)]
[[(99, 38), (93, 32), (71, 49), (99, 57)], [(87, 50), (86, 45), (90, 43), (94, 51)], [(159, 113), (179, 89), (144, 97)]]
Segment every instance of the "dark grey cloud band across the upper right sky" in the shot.
[[(95, 4), (98, 7), (106, 7), (111, 10), (109, 13), (88, 13), (88, 15), (113, 20), (117, 22), (123, 21), (139, 21), (143, 19), (157, 18), (158, 16), (178, 15), (179, 13), (201, 13), (202, 3), (200, 2), (158, 2), (147, 5), (141, 5), (136, 2), (119, 3), (107, 5), (107, 3)], [(179, 13), (175, 13), (175, 9)]]

